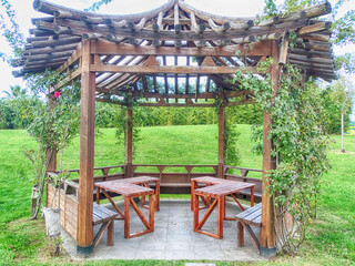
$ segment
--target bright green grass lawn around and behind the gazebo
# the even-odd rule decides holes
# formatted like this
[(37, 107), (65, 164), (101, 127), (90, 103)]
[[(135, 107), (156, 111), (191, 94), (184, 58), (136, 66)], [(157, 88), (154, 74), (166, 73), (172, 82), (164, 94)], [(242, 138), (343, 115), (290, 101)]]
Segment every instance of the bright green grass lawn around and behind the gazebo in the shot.
[[(240, 166), (261, 168), (262, 156), (250, 151), (250, 126), (240, 125)], [(216, 164), (216, 125), (144, 127), (134, 163)], [(334, 136), (329, 158), (333, 168), (324, 176), (317, 219), (310, 226), (306, 241), (295, 257), (280, 256), (257, 265), (352, 265), (355, 264), (355, 136), (345, 137), (341, 153), (339, 136)], [(69, 258), (51, 256), (52, 244), (44, 236), (43, 222), (30, 222), (30, 195), (33, 174), (22, 146), (34, 143), (22, 131), (0, 131), (0, 265), (71, 264)], [(95, 139), (95, 166), (124, 161), (123, 147), (114, 130), (100, 130)], [(63, 168), (79, 167), (79, 140), (64, 153)], [(81, 263), (75, 263), (81, 264)], [(132, 262), (87, 262), (85, 265), (132, 265)], [(183, 262), (134, 262), (133, 265), (184, 265)], [(223, 264), (216, 265), (244, 265)]]

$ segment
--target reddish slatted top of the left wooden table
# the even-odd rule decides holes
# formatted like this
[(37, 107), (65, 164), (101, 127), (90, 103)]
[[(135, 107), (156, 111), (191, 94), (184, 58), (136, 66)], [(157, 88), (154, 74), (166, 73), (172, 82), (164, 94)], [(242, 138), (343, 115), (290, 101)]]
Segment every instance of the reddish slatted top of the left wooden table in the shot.
[[(140, 183), (142, 183), (142, 181), (140, 181)], [(154, 190), (152, 188), (135, 185), (130, 182), (121, 182), (121, 180), (97, 182), (95, 186), (106, 191), (115, 192), (123, 196), (141, 196), (154, 194)]]

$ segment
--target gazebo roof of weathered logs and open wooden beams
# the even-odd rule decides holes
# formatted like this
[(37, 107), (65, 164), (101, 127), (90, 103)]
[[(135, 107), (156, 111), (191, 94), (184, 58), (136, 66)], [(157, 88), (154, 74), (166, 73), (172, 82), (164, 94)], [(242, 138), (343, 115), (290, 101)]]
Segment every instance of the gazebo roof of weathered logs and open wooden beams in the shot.
[[(260, 52), (268, 49), (267, 41), (284, 41), (290, 32), (297, 34), (295, 48), (286, 49), (281, 60), (298, 65), (307, 76), (335, 78), (331, 22), (318, 20), (331, 12), (328, 2), (261, 22), (210, 14), (182, 0), (170, 0), (143, 13), (118, 16), (73, 10), (44, 0), (36, 0), (33, 7), (48, 17), (32, 19), (36, 29), (30, 30), (32, 37), (22, 58), (13, 61), (14, 66), (21, 66), (13, 74), (48, 68), (63, 71), (69, 65), (73, 70), (78, 45), (83, 39), (95, 40), (92, 52), (100, 63), (111, 65), (97, 72), (97, 99), (120, 95), (126, 85), (143, 91), (144, 98), (173, 94), (184, 99), (193, 93), (197, 99), (203, 93), (201, 99), (207, 99), (215, 86), (235, 90), (237, 84), (229, 82), (235, 70), (243, 66), (253, 71), (267, 55)], [(258, 52), (253, 53), (253, 49)], [(152, 55), (154, 51), (156, 55)], [(161, 71), (154, 70), (158, 65)], [(210, 68), (202, 69), (204, 65)]]

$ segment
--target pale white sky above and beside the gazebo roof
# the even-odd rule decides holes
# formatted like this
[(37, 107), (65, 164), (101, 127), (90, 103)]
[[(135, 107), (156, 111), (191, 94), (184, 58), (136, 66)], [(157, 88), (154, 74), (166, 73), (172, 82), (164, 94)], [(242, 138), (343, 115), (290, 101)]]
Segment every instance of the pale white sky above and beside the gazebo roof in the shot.
[[(70, 7), (73, 9), (84, 9), (88, 8), (94, 2), (94, 0), (49, 0), (50, 2), (58, 3), (61, 6)], [(165, 3), (168, 0), (113, 0), (106, 7), (102, 7), (100, 12), (102, 13), (112, 13), (112, 14), (124, 14), (124, 13), (136, 13), (143, 12), (158, 8)], [(200, 10), (222, 14), (230, 17), (255, 17), (256, 14), (262, 13), (264, 8), (264, 0), (185, 0), (190, 6), (197, 8)], [(332, 6), (335, 4), (336, 0), (329, 0)], [(43, 13), (39, 13), (33, 10), (32, 3), (33, 0), (11, 0), (16, 13), (17, 21), (20, 25), (21, 32), (29, 37), (29, 29), (33, 28), (31, 24), (31, 18), (44, 17)], [(349, 9), (355, 9), (355, 0), (348, 0), (343, 6), (343, 9), (339, 10), (339, 14), (348, 11)], [(0, 37), (0, 52), (11, 53), (11, 49), (8, 47), (6, 40)], [(355, 53), (355, 45), (346, 47), (335, 47), (334, 53), (336, 55), (343, 54), (345, 52)], [(10, 68), (6, 62), (0, 61), (0, 98), (4, 96), (3, 91), (9, 91), (10, 85), (21, 85), (26, 86), (21, 78), (13, 78), (11, 71), (14, 69)], [(355, 105), (355, 104), (354, 104)], [(355, 121), (355, 110), (353, 112), (353, 121)]]

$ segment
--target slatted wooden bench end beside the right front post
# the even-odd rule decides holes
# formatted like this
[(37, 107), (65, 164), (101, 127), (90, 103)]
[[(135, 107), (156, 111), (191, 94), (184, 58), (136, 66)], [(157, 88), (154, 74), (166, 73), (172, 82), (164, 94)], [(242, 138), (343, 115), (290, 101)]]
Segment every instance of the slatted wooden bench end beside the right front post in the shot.
[(257, 204), (254, 207), (251, 207), (237, 215), (235, 215), (237, 221), (237, 246), (244, 246), (244, 228), (250, 236), (252, 244), (257, 253), (260, 253), (260, 243), (255, 236), (252, 226), (261, 227), (262, 226), (262, 204)]

